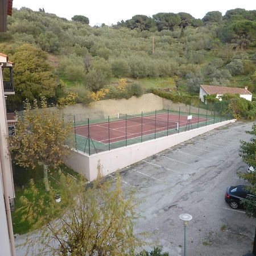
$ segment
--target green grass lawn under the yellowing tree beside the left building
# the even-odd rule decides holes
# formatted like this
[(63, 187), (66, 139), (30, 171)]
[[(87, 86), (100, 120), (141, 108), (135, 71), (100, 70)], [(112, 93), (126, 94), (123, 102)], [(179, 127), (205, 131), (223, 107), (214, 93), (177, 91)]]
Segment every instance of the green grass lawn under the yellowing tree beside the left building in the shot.
[[(22, 207), (22, 203), (20, 201), (20, 197), (24, 196), (24, 192), (27, 188), (29, 188), (29, 181), (33, 179), (36, 185), (36, 188), (39, 189), (38, 198), (46, 192), (46, 188), (43, 181), (43, 168), (37, 166), (34, 170), (30, 168), (22, 168), (18, 166), (14, 166), (14, 183), (15, 183), (15, 210), (11, 213), (11, 217), (13, 220), (13, 230), (14, 234), (25, 234), (32, 230), (32, 226), (27, 221), (22, 221), (22, 213), (18, 210)], [(78, 178), (79, 174), (75, 171), (71, 170), (67, 166), (61, 166), (61, 171), (66, 175), (71, 175), (74, 178)], [(52, 188), (57, 189), (59, 185), (59, 170), (49, 170), (48, 172), (49, 183)], [(22, 179), (20, 179), (22, 177)], [(16, 182), (15, 182), (16, 181)], [(27, 196), (28, 199), (30, 196)], [(42, 213), (43, 214), (43, 213)]]

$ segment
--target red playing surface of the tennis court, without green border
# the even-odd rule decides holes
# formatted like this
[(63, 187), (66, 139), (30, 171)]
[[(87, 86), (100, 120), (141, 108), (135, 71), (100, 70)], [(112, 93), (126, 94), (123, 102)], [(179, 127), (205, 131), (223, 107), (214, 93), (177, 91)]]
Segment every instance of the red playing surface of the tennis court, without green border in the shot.
[[(92, 123), (89, 125), (90, 138), (94, 141), (98, 141), (104, 144), (125, 141), (125, 139), (131, 139), (141, 137), (142, 135), (159, 133), (160, 131), (167, 130), (167, 118), (168, 114), (147, 115), (143, 117), (143, 123), (141, 124), (141, 118), (127, 119), (127, 129), (125, 119), (119, 119), (117, 121)], [(169, 114), (168, 129), (176, 129), (177, 122), (179, 121), (179, 115)], [(191, 124), (197, 122), (204, 122), (205, 118), (192, 117)], [(180, 115), (179, 127), (187, 125), (187, 116)], [(127, 135), (126, 135), (127, 133)], [(88, 137), (88, 125), (77, 126), (76, 134), (83, 137)]]

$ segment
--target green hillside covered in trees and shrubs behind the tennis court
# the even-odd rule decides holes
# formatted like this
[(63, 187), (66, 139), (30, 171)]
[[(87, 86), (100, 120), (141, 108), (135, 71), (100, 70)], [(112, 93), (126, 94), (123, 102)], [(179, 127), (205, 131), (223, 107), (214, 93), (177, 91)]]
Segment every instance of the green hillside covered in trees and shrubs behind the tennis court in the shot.
[(136, 15), (111, 27), (88, 22), (13, 10), (8, 32), (0, 34), (0, 52), (15, 62), (9, 109), (41, 95), (63, 105), (151, 88), (198, 95), (200, 84), (256, 92), (255, 10), (213, 11), (202, 20), (186, 13)]

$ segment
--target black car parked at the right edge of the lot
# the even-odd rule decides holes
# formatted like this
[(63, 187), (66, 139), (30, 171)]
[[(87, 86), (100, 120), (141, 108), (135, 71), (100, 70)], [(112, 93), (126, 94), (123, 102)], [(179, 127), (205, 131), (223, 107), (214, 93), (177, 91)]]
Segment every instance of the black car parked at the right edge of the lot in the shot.
[(247, 196), (254, 197), (249, 191), (246, 191), (245, 185), (229, 186), (226, 189), (225, 201), (231, 208), (242, 208), (241, 199), (245, 199)]

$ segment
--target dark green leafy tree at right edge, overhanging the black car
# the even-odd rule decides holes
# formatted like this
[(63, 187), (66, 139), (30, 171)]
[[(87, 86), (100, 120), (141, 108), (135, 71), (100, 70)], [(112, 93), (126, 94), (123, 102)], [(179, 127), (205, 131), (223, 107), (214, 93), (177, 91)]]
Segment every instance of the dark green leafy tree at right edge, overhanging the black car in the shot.
[[(246, 131), (246, 133), (253, 135), (253, 137), (250, 139), (250, 142), (241, 141), (240, 154), (242, 156), (243, 162), (245, 162), (249, 166), (253, 166), (254, 169), (256, 169), (256, 123), (253, 124), (251, 131)], [(250, 172), (249, 174), (239, 172), (238, 176), (242, 179), (249, 181), (250, 185), (248, 186), (248, 190), (256, 195), (256, 172)], [(250, 197), (242, 200), (242, 204), (245, 207), (246, 214), (249, 217), (256, 218), (255, 197)], [(253, 254), (256, 255), (256, 227), (254, 235)]]

